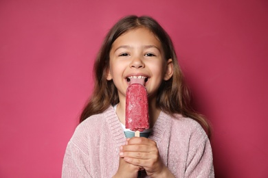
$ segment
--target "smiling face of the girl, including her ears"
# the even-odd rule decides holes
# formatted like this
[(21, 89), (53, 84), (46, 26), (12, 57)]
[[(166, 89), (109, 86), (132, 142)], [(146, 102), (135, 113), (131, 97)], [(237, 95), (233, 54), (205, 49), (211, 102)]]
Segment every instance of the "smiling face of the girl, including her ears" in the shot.
[(172, 76), (172, 60), (164, 59), (161, 42), (144, 27), (131, 29), (113, 42), (107, 79), (113, 79), (118, 94), (124, 99), (129, 77), (145, 77), (148, 97), (156, 97), (163, 79)]

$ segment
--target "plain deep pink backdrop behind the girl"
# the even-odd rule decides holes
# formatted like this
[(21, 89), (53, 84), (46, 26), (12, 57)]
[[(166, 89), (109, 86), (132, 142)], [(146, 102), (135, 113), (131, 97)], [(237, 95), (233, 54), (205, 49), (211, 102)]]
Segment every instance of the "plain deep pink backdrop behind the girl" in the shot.
[(268, 3), (0, 1), (0, 177), (60, 177), (111, 25), (147, 14), (174, 41), (214, 128), (216, 177), (268, 177)]

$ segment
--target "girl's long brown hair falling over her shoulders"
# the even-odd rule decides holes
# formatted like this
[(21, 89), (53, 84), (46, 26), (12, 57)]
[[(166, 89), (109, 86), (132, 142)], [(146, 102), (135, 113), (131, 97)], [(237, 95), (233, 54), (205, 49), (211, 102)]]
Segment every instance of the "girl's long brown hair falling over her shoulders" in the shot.
[(190, 90), (186, 86), (181, 68), (177, 62), (172, 40), (161, 25), (149, 16), (126, 16), (118, 21), (104, 38), (93, 67), (95, 86), (91, 98), (82, 111), (80, 123), (89, 116), (104, 112), (110, 105), (119, 102), (117, 88), (115, 88), (112, 80), (107, 80), (109, 53), (113, 42), (119, 36), (137, 27), (145, 27), (152, 31), (161, 42), (165, 59), (172, 59), (173, 75), (168, 81), (162, 81), (157, 93), (157, 107), (167, 114), (182, 114), (197, 120), (210, 136), (211, 129), (208, 121), (201, 114), (195, 112), (191, 105)]

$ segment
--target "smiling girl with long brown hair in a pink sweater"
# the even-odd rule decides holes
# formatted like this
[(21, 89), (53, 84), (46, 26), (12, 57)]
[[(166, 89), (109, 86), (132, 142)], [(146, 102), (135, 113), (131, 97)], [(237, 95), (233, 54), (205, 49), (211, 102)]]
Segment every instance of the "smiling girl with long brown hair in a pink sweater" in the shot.
[[(94, 76), (93, 94), (67, 145), (63, 177), (214, 177), (210, 127), (192, 109), (172, 41), (157, 21), (118, 21), (104, 39)], [(124, 134), (131, 77), (142, 78), (148, 92), (148, 138)]]

